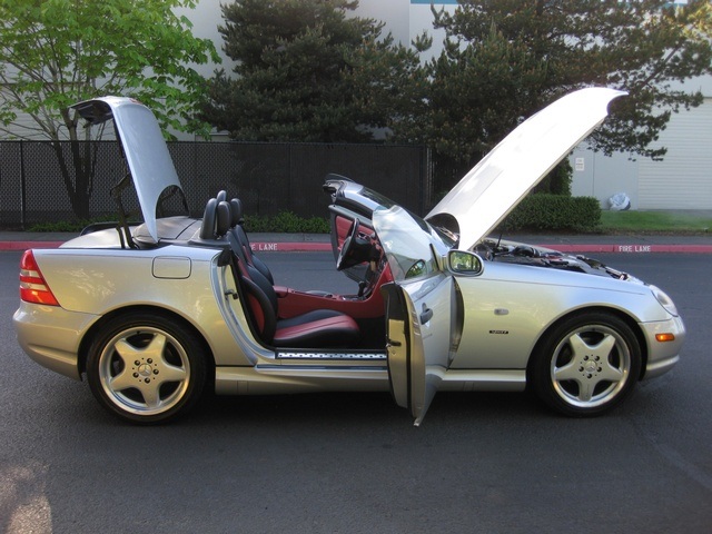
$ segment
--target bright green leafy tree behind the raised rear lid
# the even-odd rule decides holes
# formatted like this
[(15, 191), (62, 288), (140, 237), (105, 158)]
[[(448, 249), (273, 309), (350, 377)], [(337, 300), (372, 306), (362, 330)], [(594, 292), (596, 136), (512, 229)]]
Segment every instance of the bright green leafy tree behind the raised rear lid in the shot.
[[(86, 218), (95, 175), (90, 129), (68, 107), (131, 96), (164, 128), (196, 122), (205, 80), (190, 65), (219, 61), (211, 41), (175, 14), (195, 0), (0, 0), (0, 132), (49, 140), (75, 214)], [(19, 120), (22, 118), (23, 120)], [(73, 141), (62, 151), (62, 140)]]

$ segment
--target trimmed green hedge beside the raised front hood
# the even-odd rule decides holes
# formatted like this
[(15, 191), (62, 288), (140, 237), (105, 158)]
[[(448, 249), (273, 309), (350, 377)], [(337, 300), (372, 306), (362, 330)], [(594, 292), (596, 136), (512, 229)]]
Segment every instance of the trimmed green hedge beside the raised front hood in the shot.
[(601, 205), (593, 197), (530, 195), (500, 225), (504, 231), (595, 231), (601, 224)]

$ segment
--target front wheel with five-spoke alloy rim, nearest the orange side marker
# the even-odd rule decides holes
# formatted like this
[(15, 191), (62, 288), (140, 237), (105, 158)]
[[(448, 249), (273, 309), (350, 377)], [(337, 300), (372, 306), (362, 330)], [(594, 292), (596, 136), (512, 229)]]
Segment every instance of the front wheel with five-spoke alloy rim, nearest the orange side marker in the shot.
[(601, 415), (635, 387), (641, 347), (627, 324), (590, 312), (564, 320), (546, 334), (534, 354), (534, 393), (555, 411), (575, 417)]

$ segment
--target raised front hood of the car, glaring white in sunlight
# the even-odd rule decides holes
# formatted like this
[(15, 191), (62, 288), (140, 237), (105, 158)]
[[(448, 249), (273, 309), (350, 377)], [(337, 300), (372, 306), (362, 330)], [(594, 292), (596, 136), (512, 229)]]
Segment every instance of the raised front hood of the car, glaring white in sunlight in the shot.
[[(426, 220), (457, 231), (459, 248), (473, 247), (603, 122), (609, 102), (623, 95), (614, 89), (582, 89), (530, 117), (473, 167)], [(458, 228), (447, 224), (452, 217)]]

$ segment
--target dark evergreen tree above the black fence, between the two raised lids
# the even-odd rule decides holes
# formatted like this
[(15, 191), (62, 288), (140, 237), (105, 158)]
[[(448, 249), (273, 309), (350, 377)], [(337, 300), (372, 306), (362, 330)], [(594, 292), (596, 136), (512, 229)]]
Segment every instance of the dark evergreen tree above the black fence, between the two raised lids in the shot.
[(354, 0), (236, 0), (222, 6), (224, 50), (236, 61), (210, 80), (202, 117), (231, 138), (368, 141), (412, 95), (416, 50), (382, 38)]

